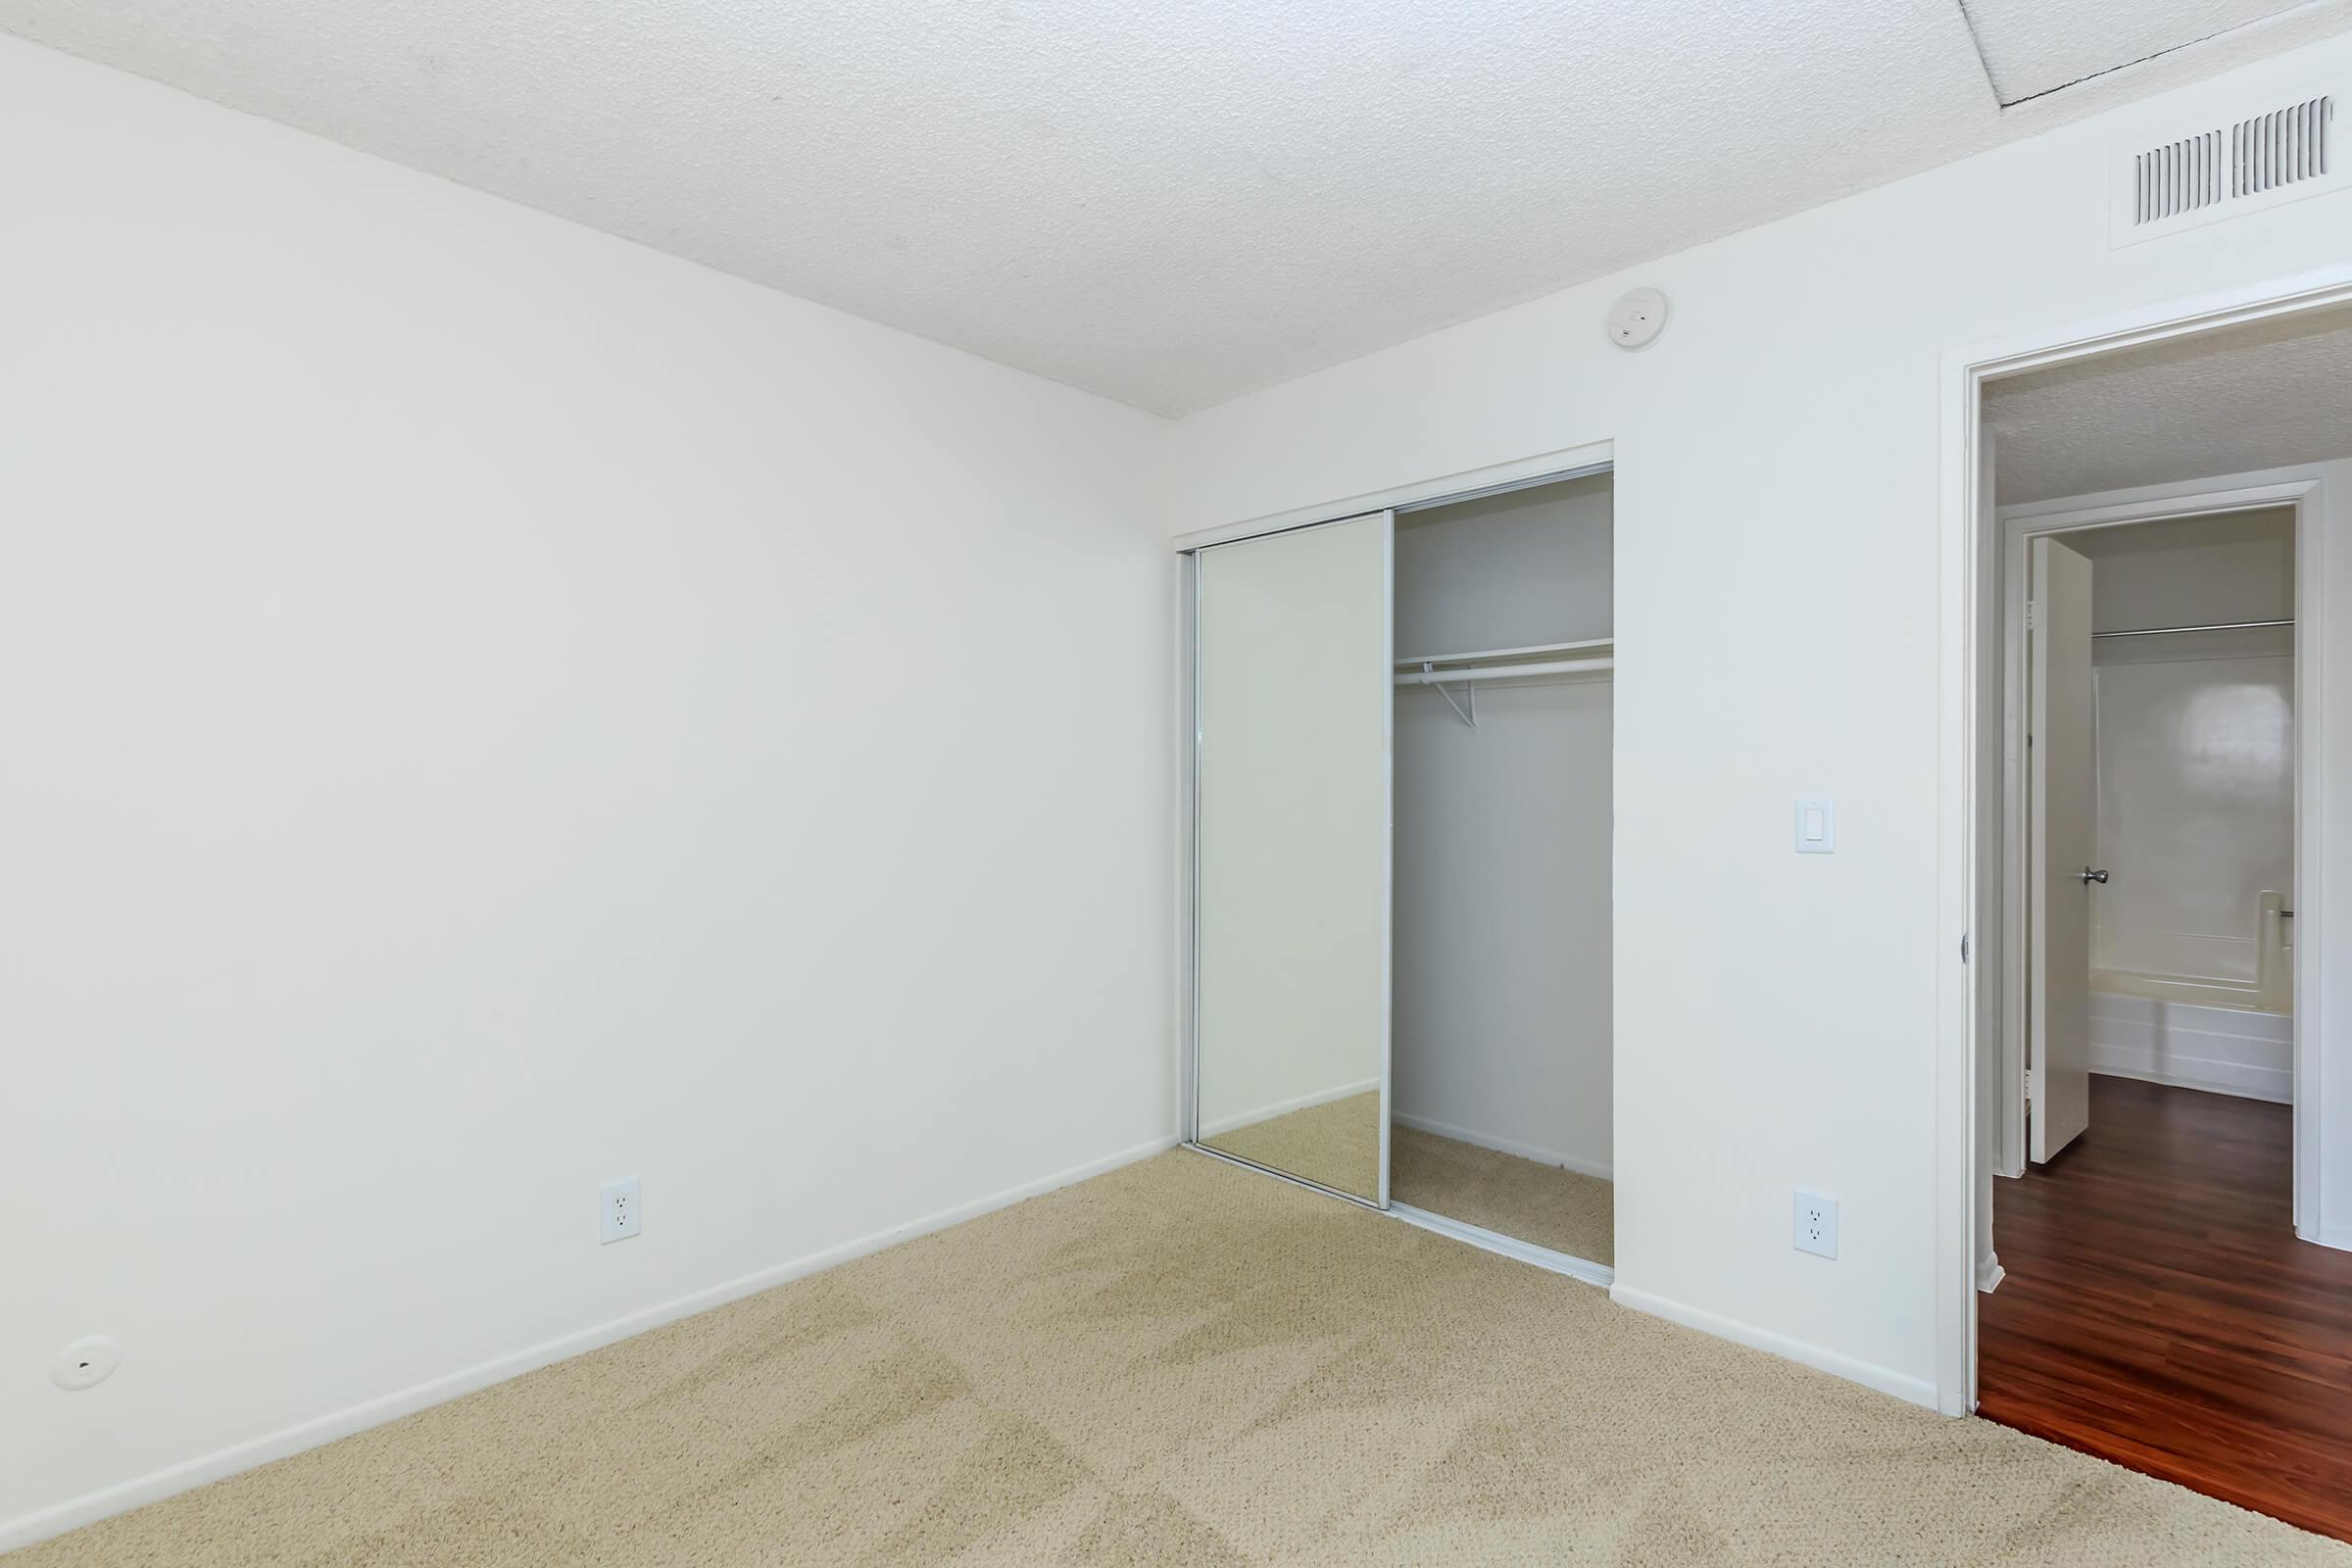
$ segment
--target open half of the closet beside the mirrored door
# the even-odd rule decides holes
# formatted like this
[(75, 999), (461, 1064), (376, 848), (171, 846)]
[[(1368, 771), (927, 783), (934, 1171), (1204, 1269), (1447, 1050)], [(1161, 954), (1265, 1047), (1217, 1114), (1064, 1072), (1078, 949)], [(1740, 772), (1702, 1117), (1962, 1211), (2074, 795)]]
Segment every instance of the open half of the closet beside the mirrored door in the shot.
[(1611, 475), (1399, 512), (1397, 651), (1390, 1199), (1609, 1269)]

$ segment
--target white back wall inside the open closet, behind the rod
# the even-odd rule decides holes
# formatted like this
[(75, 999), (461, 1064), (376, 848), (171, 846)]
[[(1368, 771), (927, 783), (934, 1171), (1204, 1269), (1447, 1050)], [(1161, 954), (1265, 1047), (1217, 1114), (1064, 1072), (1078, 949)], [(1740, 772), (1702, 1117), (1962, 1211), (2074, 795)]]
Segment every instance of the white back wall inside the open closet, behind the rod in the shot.
[[(1609, 480), (1397, 520), (1397, 649), (1609, 635)], [(1397, 689), (1397, 1119), (1606, 1175), (1609, 684)]]

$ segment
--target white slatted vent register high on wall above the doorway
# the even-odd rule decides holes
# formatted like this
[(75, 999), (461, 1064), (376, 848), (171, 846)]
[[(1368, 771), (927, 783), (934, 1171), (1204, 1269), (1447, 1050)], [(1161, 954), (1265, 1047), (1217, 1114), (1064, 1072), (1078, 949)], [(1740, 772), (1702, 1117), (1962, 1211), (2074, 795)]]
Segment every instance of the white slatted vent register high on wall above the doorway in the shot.
[(2345, 186), (2331, 146), (2333, 94), (2197, 127), (2157, 146), (2117, 148), (2107, 240), (2138, 244)]

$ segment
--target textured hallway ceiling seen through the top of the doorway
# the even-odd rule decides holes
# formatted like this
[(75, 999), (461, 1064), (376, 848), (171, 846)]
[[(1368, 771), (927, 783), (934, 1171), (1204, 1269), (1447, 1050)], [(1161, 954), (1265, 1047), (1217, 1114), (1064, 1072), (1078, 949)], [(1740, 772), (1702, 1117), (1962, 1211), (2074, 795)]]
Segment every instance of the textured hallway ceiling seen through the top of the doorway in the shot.
[(1994, 381), (1985, 423), (2002, 503), (2345, 458), (2352, 308)]

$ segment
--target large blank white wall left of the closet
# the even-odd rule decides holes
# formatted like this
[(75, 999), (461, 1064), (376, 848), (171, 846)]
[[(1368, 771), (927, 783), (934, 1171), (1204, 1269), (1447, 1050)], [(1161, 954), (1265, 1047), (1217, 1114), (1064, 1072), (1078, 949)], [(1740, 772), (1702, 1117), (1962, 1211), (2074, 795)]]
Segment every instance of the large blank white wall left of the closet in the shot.
[(0, 1544), (1174, 1133), (1164, 425), (14, 40), (0, 146)]

